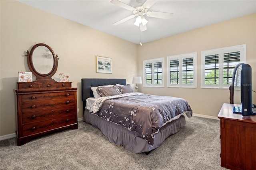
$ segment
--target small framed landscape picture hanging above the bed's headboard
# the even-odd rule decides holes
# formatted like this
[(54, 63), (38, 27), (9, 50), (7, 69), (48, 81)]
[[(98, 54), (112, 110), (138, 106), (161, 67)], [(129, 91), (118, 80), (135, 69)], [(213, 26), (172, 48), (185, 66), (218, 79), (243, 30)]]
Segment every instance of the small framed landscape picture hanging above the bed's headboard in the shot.
[(112, 73), (112, 58), (96, 55), (96, 72)]

